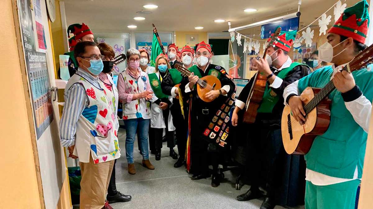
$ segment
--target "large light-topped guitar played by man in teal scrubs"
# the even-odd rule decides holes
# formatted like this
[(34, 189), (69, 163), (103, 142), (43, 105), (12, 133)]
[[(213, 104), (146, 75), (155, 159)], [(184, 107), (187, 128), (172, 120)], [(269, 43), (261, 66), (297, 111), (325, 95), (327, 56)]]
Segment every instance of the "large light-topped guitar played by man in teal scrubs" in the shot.
[[(361, 51), (342, 70), (352, 72), (371, 64), (373, 60), (372, 49), (373, 45), (370, 45)], [(303, 125), (293, 118), (290, 107), (285, 106), (282, 112), (281, 131), (283, 146), (288, 154), (307, 154), (316, 136), (326, 132), (330, 124), (331, 103), (327, 96), (334, 89), (333, 81), (330, 80), (322, 89), (307, 87), (302, 92), (301, 97), (307, 99), (307, 102), (303, 105), (306, 113), (306, 120)]]

